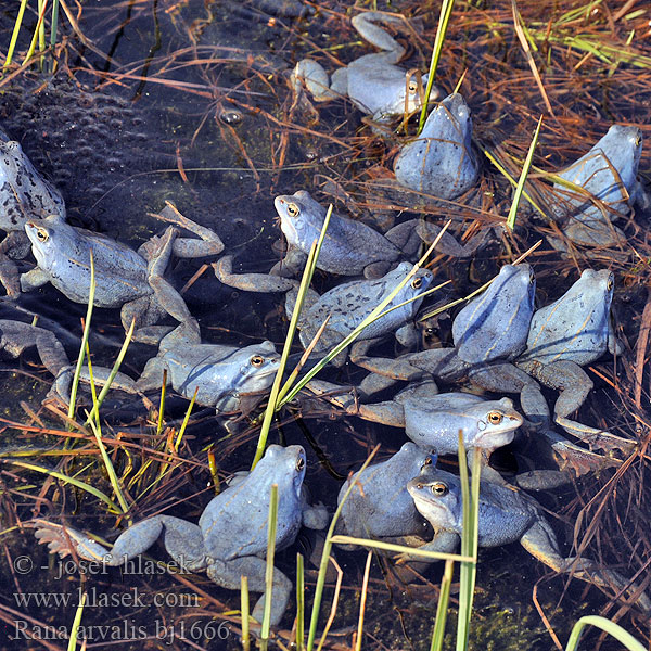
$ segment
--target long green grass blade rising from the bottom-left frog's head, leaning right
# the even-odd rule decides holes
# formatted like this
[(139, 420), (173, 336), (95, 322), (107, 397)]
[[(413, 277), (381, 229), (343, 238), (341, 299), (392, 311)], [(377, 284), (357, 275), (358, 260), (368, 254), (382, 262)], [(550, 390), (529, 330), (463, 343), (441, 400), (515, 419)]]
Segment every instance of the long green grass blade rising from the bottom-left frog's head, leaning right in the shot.
[(284, 373), (288, 358), (290, 356), (290, 350), (292, 348), (292, 343), (294, 341), (294, 334), (296, 333), (296, 327), (298, 324), (298, 318), (301, 316), (303, 303), (305, 301), (307, 290), (311, 282), (312, 275), (317, 267), (319, 252), (321, 251), (321, 245), (323, 244), (323, 240), (326, 238), (326, 232), (328, 231), (328, 225), (330, 224), (331, 215), (332, 215), (332, 204), (330, 204), (330, 206), (328, 208), (328, 213), (326, 214), (326, 219), (323, 220), (323, 226), (321, 227), (321, 232), (319, 234), (319, 239), (316, 242), (312, 242), (312, 245), (309, 250), (309, 254), (307, 256), (307, 263), (305, 264), (305, 269), (303, 271), (303, 278), (301, 279), (301, 285), (298, 288), (298, 294), (296, 296), (294, 311), (292, 312), (292, 318), (290, 319), (290, 326), (288, 328), (288, 335), (285, 336), (284, 346), (282, 348), (282, 354), (280, 356), (280, 367), (278, 368), (278, 372), (276, 373), (276, 378), (273, 379), (273, 384), (271, 385), (271, 393), (269, 394), (269, 403), (267, 404), (267, 409), (265, 411), (265, 417), (263, 419), (263, 425), (260, 427), (260, 434), (258, 436), (258, 443), (257, 443), (257, 447), (255, 450), (255, 457), (253, 458), (253, 463), (251, 464), (251, 470), (253, 470), (256, 467), (257, 462), (263, 458), (263, 455), (265, 454), (265, 448), (267, 446), (267, 437), (269, 435), (269, 427), (271, 426), (271, 421), (273, 420), (273, 414), (280, 408), (278, 396), (279, 396), (279, 392), (280, 392), (280, 384), (282, 382), (282, 375)]

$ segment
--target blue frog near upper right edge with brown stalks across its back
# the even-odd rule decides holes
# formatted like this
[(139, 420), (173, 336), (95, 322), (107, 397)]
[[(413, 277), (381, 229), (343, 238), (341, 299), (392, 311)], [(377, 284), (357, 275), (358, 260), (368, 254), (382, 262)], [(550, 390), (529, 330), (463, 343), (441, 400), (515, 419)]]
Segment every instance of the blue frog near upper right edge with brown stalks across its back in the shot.
[(585, 194), (554, 183), (560, 194), (553, 206), (559, 218), (569, 217), (565, 235), (577, 244), (608, 246), (624, 241), (624, 234), (610, 221), (626, 216), (630, 205), (642, 199), (637, 180), (642, 153), (642, 132), (638, 127), (612, 125), (605, 136), (559, 176), (600, 200), (602, 208)]

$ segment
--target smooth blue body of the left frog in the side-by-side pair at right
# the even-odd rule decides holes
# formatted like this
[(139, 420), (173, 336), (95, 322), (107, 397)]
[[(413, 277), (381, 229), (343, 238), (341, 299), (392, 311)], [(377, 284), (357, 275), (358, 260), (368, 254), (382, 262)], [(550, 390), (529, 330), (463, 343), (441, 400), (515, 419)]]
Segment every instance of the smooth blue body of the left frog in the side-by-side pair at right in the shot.
[(536, 278), (529, 265), (505, 265), (488, 289), (456, 317), (457, 355), (469, 363), (513, 359), (526, 347)]

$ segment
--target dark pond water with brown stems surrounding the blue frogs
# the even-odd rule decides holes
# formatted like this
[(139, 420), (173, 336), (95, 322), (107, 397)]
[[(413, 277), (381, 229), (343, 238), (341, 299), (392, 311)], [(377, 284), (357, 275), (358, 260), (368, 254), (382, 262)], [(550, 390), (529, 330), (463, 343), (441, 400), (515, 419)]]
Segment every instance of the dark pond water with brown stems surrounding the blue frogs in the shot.
[[(380, 9), (418, 16), (408, 64), (424, 68), (436, 25), (436, 3), (399, 2)], [(554, 5), (554, 20), (569, 9)], [(316, 16), (294, 21), (271, 16), (246, 2), (82, 3), (78, 21), (84, 42), (64, 22), (67, 40), (60, 69), (53, 77), (33, 69), (5, 84), (0, 94), (1, 126), (21, 141), (36, 166), (61, 189), (72, 224), (136, 247), (162, 230), (162, 224), (150, 214), (170, 201), (187, 217), (220, 235), (226, 252), (235, 256), (238, 270), (265, 272), (280, 255), (275, 245), (280, 237), (272, 203), (277, 194), (307, 189), (326, 203), (332, 201), (339, 188), (340, 196), (345, 194), (347, 200), (346, 205), (340, 202), (340, 209), (353, 208), (358, 217), (370, 219), (369, 208), (379, 206), (383, 210), (373, 213), (388, 219), (413, 216), (387, 205), (409, 205), (408, 197), (396, 199), (378, 190), (378, 179), (391, 175), (396, 139), (382, 139), (361, 126), (359, 112), (348, 102), (317, 105), (318, 117), (292, 107), (286, 77), (298, 59), (322, 48), (319, 56), (326, 62), (330, 58), (332, 65), (332, 58), (348, 62), (369, 51), (357, 41), (346, 10), (331, 2)], [(502, 158), (508, 154), (523, 156), (537, 117), (546, 108), (513, 35), (510, 4), (460, 3), (455, 11), (438, 82), (451, 91), (468, 68), (462, 92), (473, 112), (477, 146)], [(525, 20), (537, 28), (542, 29), (540, 25), (551, 20), (547, 9), (527, 11)], [(13, 18), (12, 11), (3, 8), (3, 52)], [(34, 20), (30, 15), (28, 26)], [(613, 23), (612, 15), (597, 8), (588, 18), (576, 17), (573, 25), (605, 35), (601, 40), (617, 47), (630, 30), (637, 29), (633, 46), (649, 56), (648, 40), (640, 36), (648, 29), (644, 20), (649, 20), (648, 12)], [(26, 34), (18, 49), (25, 49)], [(558, 34), (564, 34), (560, 27)], [(636, 124), (646, 138), (651, 136), (644, 124), (651, 106), (646, 68), (625, 63), (607, 66), (586, 56), (585, 51), (556, 47), (552, 39), (539, 56), (557, 119), (546, 119), (536, 164), (554, 169), (575, 159), (612, 122)], [(648, 169), (649, 156), (643, 153), (642, 176)], [(416, 214), (427, 213), (438, 221), (452, 217), (452, 229), (460, 235), (474, 220), (481, 225), (502, 222), (509, 202), (508, 184), (486, 163), (474, 205), (451, 202)], [(591, 373), (597, 386), (579, 420), (603, 423), (623, 436), (648, 438), (643, 408), (648, 395), (644, 397), (642, 392), (637, 409), (627, 397), (633, 395), (635, 346), (649, 282), (646, 216), (638, 214), (635, 222), (623, 228), (630, 250), (579, 251), (574, 257), (564, 257), (544, 241), (529, 261), (538, 279), (538, 305), (559, 297), (584, 268), (612, 268), (616, 272), (615, 321), (626, 352), (616, 366), (612, 360), (597, 365)], [(439, 257), (433, 268), (437, 278), (452, 280), (450, 294), (463, 295), (549, 231), (541, 220), (523, 216), (514, 237), (496, 231), (495, 241), (475, 259)], [(174, 284), (183, 286), (197, 268), (194, 261), (178, 263)], [(335, 281), (318, 273), (315, 284), (323, 290)], [(269, 339), (282, 345), (286, 318), (278, 296), (245, 294), (221, 285), (209, 267), (184, 296), (206, 342), (245, 345)], [(76, 355), (85, 306), (67, 301), (50, 285), (22, 296), (17, 305), (24, 311), (2, 305), (0, 317), (29, 321), (29, 315), (37, 314), (41, 324), (56, 324), (68, 354)], [(449, 343), (449, 317), (444, 318), (431, 332), (425, 331), (424, 345)], [(97, 309), (90, 341), (94, 363), (111, 363), (122, 337), (117, 310)], [(378, 352), (391, 356), (400, 350), (387, 344)], [(152, 355), (151, 347), (132, 345), (123, 370), (138, 376)], [(346, 365), (341, 370), (328, 370), (326, 376), (356, 384), (363, 373)], [(648, 383), (646, 375), (643, 382)], [(50, 383), (51, 378), (31, 353), (20, 361), (2, 362), (0, 404), (5, 418), (35, 422), (21, 401), (36, 411)], [(548, 395), (553, 398), (552, 392)], [(152, 400), (157, 404), (158, 398), (153, 396)], [(168, 423), (178, 425), (186, 407), (184, 400), (170, 397), (165, 412)], [(301, 444), (307, 449), (307, 483), (312, 497), (333, 510), (341, 477), (359, 467), (376, 443), (382, 444), (380, 455), (387, 457), (399, 448), (404, 435), (359, 419), (341, 414), (330, 418), (329, 408), (320, 409), (319, 418), (312, 413), (297, 420), (295, 413), (283, 414), (282, 425), (273, 427), (271, 436), (273, 442)], [(207, 448), (213, 445), (221, 478), (246, 469), (254, 454), (255, 429), (226, 438), (210, 412), (196, 409), (180, 448), (182, 459), (175, 461), (161, 481), (156, 478), (158, 473), (167, 471), (152, 450), (165, 449), (166, 435), (156, 437), (155, 429), (144, 422), (142, 403), (126, 396), (112, 398), (104, 417), (104, 435), (128, 442), (119, 449), (112, 444), (110, 451), (129, 497), (137, 500), (136, 520), (165, 511), (196, 522), (213, 495)], [(65, 430), (63, 421), (51, 413), (43, 412), (41, 418), (43, 427)], [(61, 449), (62, 435), (44, 435), (38, 430), (41, 423), (36, 423), (36, 433), (4, 429), (3, 447)], [(139, 451), (141, 444), (149, 452)], [(71, 452), (60, 470), (69, 476), (78, 473), (82, 481), (111, 495), (101, 464), (89, 465), (97, 459), (97, 448), (90, 443), (79, 447), (85, 454)], [(149, 462), (148, 455), (153, 455)], [(541, 456), (544, 450), (529, 442), (496, 456), (494, 463), (508, 474), (519, 462), (546, 464)], [(24, 460), (54, 468), (59, 459), (28, 454)], [(446, 463), (452, 469), (455, 461)], [(567, 556), (572, 556), (576, 514), (613, 472), (604, 471), (600, 477), (583, 478), (576, 485), (538, 496)], [(589, 547), (590, 554), (617, 564), (627, 576), (640, 571), (639, 580), (649, 577), (650, 548), (643, 539), (648, 538), (647, 518), (651, 512), (648, 489), (643, 487), (648, 472), (648, 459), (634, 460), (628, 478), (620, 480), (600, 510), (601, 527)], [(239, 596), (217, 588), (205, 576), (171, 576), (154, 571), (151, 564), (136, 565), (127, 572), (110, 569), (84, 575), (72, 562), (59, 563), (48, 557), (36, 545), (31, 529), (15, 528), (33, 516), (61, 521), (65, 515), (71, 525), (101, 532), (113, 540), (125, 522), (107, 513), (105, 505), (87, 492), (3, 464), (0, 507), (4, 529), (0, 538), (4, 552), (0, 563), (0, 648), (65, 649), (64, 634), (72, 625), (80, 589), (91, 596), (82, 620), (88, 627), (89, 649), (238, 647), (239, 624), (233, 611), (239, 609)], [(596, 516), (588, 506), (578, 540), (584, 539), (587, 525)], [(302, 536), (296, 546), (280, 554), (278, 566), (293, 577), (295, 551), (309, 552), (310, 544), (307, 536)], [(148, 559), (165, 558), (159, 545), (151, 553)], [(329, 648), (350, 641), (366, 554), (340, 551), (336, 558), (344, 578)], [(534, 607), (533, 590), (562, 642), (580, 615), (607, 607), (605, 597), (596, 588), (586, 589), (579, 582), (566, 586), (563, 578), (551, 578), (546, 572), (516, 544), (481, 551), (473, 649), (552, 648)], [(433, 566), (422, 577), (397, 577), (392, 565), (376, 559), (371, 572), (365, 647), (429, 648), (439, 575), (441, 570)], [(315, 577), (310, 566), (308, 583)], [(330, 598), (332, 590), (327, 595)], [(611, 608), (608, 614), (615, 612)], [(649, 625), (639, 620), (631, 623), (625, 617), (623, 622), (629, 628), (635, 626), (640, 637), (650, 634)], [(291, 626), (291, 618), (285, 616), (283, 624)], [(451, 641), (448, 648), (452, 648)], [(605, 641), (602, 648), (614, 644)]]

